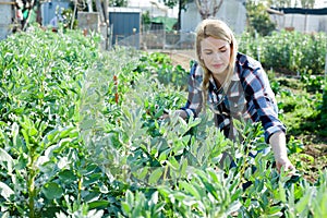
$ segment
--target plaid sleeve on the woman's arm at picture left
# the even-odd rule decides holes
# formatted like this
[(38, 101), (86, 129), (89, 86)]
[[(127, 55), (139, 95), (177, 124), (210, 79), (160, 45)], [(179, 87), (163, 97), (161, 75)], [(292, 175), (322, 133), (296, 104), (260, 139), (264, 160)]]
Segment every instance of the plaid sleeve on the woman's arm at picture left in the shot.
[(202, 69), (194, 63), (191, 68), (191, 73), (189, 76), (189, 96), (187, 101), (181, 109), (186, 111), (187, 116), (197, 117), (202, 110)]

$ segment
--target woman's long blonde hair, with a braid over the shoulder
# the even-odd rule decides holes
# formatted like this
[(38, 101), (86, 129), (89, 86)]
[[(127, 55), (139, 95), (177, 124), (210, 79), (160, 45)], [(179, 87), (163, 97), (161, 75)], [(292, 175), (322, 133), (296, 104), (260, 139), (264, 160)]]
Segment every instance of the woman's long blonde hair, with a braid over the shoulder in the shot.
[(216, 19), (207, 19), (202, 21), (198, 24), (198, 26), (196, 27), (195, 47), (196, 47), (197, 61), (204, 71), (203, 82), (202, 82), (202, 90), (203, 90), (202, 104), (203, 104), (204, 111), (206, 111), (206, 101), (208, 96), (207, 90), (209, 87), (210, 71), (208, 70), (203, 59), (201, 58), (201, 41), (207, 37), (222, 39), (229, 43), (231, 52), (230, 52), (230, 61), (228, 64), (228, 74), (227, 74), (228, 77), (230, 77), (233, 74), (234, 63), (238, 55), (238, 44), (234, 34), (225, 22)]

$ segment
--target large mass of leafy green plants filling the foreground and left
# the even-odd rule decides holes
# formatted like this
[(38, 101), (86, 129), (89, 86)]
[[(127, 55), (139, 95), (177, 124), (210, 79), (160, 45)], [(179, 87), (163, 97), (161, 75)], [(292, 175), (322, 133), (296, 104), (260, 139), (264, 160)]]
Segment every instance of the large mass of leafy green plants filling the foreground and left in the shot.
[(0, 43), (1, 217), (326, 216), (326, 171), (311, 183), (252, 157), (259, 125), (237, 122), (232, 142), (209, 113), (158, 120), (185, 102), (185, 70), (98, 41), (36, 28)]

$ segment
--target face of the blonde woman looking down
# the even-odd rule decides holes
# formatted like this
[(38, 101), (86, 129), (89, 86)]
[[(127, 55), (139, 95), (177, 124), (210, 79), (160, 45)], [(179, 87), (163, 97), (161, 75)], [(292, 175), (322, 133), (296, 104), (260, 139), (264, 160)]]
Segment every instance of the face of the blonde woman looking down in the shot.
[(230, 61), (230, 45), (226, 40), (209, 36), (201, 41), (199, 57), (213, 73), (214, 77), (221, 78), (221, 76), (226, 76), (226, 70)]

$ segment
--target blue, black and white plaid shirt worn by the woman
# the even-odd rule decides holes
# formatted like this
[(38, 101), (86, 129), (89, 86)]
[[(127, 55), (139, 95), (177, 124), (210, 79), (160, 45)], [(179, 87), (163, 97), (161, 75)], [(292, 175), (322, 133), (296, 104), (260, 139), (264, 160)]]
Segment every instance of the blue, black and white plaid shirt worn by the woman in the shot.
[[(195, 62), (189, 77), (189, 98), (181, 108), (196, 117), (202, 110), (203, 69)], [(218, 89), (214, 78), (209, 80), (207, 104), (215, 112), (215, 123), (226, 136), (233, 137), (232, 119), (261, 121), (265, 129), (265, 141), (278, 132), (286, 132), (278, 120), (278, 107), (268, 77), (258, 61), (238, 53), (235, 70), (227, 87)]]

